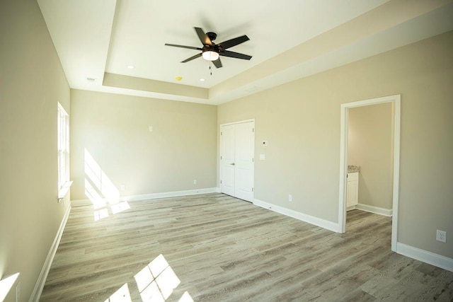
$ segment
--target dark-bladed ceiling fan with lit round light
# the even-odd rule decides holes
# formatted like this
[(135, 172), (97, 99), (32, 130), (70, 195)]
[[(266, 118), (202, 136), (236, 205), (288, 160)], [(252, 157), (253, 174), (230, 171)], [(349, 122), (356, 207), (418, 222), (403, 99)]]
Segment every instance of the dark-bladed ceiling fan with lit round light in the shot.
[(185, 45), (175, 45), (175, 44), (165, 44), (166, 46), (173, 46), (173, 47), (181, 47), (181, 48), (188, 48), (189, 50), (201, 50), (200, 53), (195, 54), (195, 56), (185, 59), (181, 63), (192, 61), (193, 59), (197, 59), (197, 57), (203, 57), (207, 61), (212, 61), (214, 66), (217, 68), (222, 67), (222, 62), (220, 61), (219, 56), (224, 57), (231, 57), (236, 59), (246, 59), (249, 60), (252, 57), (247, 54), (240, 54), (239, 52), (231, 52), (227, 50), (230, 47), (239, 45), (243, 42), (250, 40), (246, 35), (242, 35), (241, 37), (235, 37), (231, 40), (226, 40), (219, 44), (215, 44), (214, 41), (217, 37), (216, 33), (205, 33), (202, 28), (195, 28), (195, 32), (198, 35), (198, 38), (202, 42), (203, 47), (193, 47), (193, 46), (185, 46)]

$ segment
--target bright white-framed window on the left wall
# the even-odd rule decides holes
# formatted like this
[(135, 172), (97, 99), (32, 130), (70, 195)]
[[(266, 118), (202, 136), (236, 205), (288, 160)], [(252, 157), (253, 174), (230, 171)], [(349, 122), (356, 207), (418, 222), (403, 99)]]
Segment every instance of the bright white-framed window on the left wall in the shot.
[(69, 115), (58, 103), (58, 190), (69, 180)]

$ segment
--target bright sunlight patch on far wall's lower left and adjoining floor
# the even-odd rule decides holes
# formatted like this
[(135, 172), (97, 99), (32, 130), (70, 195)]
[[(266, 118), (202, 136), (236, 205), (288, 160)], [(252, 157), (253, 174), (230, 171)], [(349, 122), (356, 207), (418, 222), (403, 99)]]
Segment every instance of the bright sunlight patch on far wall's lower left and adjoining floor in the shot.
[(84, 158), (85, 195), (95, 209), (94, 221), (130, 209), (127, 202), (120, 202), (120, 192), (86, 149)]

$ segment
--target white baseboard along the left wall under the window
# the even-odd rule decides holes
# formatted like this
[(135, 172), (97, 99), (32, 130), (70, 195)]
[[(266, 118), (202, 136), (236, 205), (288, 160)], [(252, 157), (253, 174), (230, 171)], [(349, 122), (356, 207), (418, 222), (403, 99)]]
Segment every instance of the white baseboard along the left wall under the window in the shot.
[(58, 245), (59, 245), (59, 240), (62, 239), (63, 231), (64, 231), (64, 226), (66, 226), (66, 223), (68, 221), (69, 217), (69, 212), (71, 211), (71, 205), (67, 207), (66, 212), (64, 213), (62, 223), (60, 223), (57, 235), (55, 236), (54, 242), (50, 246), (49, 253), (47, 254), (47, 257), (45, 258), (44, 265), (42, 266), (40, 276), (38, 277), (38, 280), (36, 281), (35, 288), (33, 289), (31, 296), (30, 296), (30, 302), (38, 302), (40, 300), (41, 294), (42, 294), (42, 289), (44, 289), (44, 284), (45, 280), (47, 279), (47, 274), (49, 274), (50, 266), (52, 265), (52, 261), (54, 260), (55, 253), (57, 252)]

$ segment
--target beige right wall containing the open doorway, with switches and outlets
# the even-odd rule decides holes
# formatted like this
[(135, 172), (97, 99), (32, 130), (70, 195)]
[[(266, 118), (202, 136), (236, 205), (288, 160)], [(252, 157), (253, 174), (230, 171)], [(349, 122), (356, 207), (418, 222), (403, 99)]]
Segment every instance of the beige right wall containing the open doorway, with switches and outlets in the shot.
[(398, 241), (453, 258), (435, 240), (453, 233), (452, 49), (449, 32), (220, 105), (218, 124), (256, 119), (255, 198), (338, 222), (340, 104), (401, 93)]

